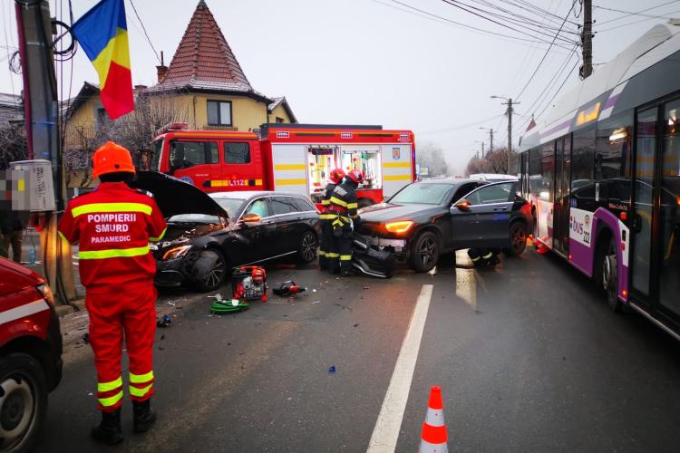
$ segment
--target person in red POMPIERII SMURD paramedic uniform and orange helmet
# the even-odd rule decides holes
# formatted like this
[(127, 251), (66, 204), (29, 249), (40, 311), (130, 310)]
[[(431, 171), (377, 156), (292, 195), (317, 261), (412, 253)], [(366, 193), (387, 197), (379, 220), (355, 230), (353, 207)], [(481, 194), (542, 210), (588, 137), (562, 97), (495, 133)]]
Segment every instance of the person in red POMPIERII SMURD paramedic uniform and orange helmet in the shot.
[(122, 339), (130, 358), (134, 431), (151, 428), (152, 346), (156, 331), (156, 263), (149, 242), (160, 241), (166, 224), (151, 194), (127, 183), (135, 173), (130, 152), (107, 142), (92, 157), (96, 190), (73, 198), (59, 221), (59, 233), (79, 243), (81, 282), (90, 314), (90, 342), (97, 368), (97, 400), (102, 422), (92, 437), (122, 441)]

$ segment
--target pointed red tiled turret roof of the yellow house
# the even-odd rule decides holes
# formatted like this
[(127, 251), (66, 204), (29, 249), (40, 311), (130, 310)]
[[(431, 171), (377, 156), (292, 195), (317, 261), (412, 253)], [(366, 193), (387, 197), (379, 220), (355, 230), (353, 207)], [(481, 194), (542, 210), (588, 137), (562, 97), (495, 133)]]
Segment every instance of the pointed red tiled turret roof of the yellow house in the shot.
[(253, 92), (215, 17), (199, 1), (158, 88), (201, 88)]

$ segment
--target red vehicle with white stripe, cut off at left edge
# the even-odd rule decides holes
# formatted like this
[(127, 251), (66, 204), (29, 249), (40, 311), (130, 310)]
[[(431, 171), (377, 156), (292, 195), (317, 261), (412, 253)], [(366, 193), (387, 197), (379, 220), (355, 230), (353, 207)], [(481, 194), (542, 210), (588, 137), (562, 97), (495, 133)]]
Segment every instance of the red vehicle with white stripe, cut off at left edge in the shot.
[(62, 334), (44, 278), (0, 258), (0, 450), (30, 450), (62, 380)]

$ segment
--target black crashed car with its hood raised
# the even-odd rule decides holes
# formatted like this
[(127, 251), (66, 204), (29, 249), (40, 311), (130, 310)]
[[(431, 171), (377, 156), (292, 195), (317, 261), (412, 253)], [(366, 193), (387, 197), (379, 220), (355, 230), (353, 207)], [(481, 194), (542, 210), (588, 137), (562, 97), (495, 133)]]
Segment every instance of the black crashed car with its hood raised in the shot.
[(152, 246), (156, 284), (213, 291), (238, 265), (316, 259), (318, 211), (303, 195), (244, 191), (206, 194), (184, 181), (141, 172), (133, 184), (154, 194), (168, 231)]

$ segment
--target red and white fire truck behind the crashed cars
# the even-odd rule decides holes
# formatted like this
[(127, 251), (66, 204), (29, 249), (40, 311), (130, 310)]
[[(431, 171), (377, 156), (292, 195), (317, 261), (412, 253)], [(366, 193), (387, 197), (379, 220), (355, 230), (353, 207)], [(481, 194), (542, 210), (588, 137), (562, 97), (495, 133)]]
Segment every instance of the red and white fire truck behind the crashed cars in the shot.
[(360, 169), (360, 206), (380, 203), (413, 182), (410, 130), (382, 126), (264, 124), (260, 134), (170, 125), (156, 140), (150, 169), (207, 192), (286, 190), (318, 202), (330, 171)]

